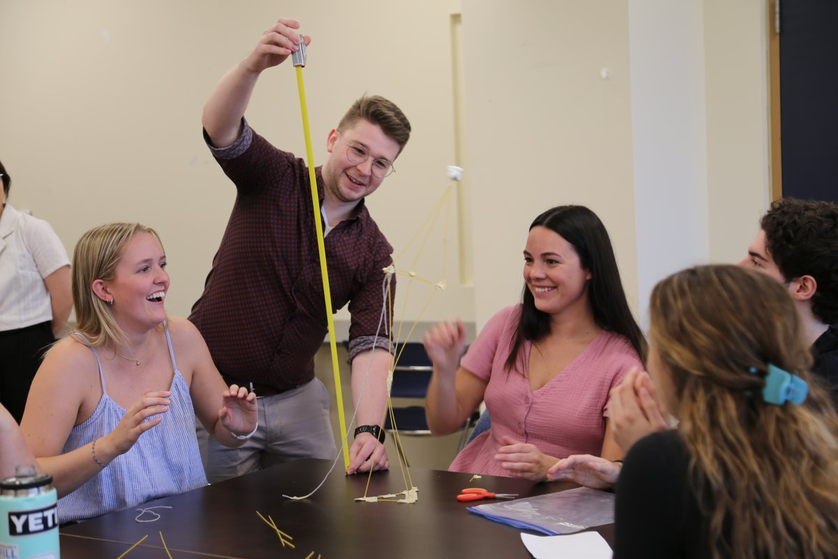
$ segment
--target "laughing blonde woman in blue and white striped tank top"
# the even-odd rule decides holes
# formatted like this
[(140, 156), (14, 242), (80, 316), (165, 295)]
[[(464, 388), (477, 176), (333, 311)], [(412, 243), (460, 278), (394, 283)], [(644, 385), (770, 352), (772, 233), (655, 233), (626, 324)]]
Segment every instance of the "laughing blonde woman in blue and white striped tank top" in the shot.
[(256, 395), (225, 386), (198, 330), (166, 315), (168, 287), (149, 227), (101, 225), (75, 246), (77, 327), (45, 357), (21, 423), (62, 522), (205, 485), (196, 416), (230, 447), (256, 430)]

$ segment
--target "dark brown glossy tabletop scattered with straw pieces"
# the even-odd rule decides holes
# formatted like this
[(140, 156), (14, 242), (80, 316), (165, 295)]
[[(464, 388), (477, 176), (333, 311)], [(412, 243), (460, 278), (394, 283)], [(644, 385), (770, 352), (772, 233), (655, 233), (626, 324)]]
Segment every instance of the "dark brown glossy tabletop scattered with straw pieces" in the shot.
[[(533, 484), (522, 479), (484, 476), (469, 481), (470, 474), (410, 469), (418, 488), (414, 504), (357, 502), (365, 494), (396, 493), (406, 488), (401, 469), (344, 476), (328, 475), (312, 497), (297, 501), (282, 494), (303, 495), (312, 491), (331, 463), (299, 460), (281, 464), (220, 484), (142, 505), (171, 506), (154, 509), (160, 518), (137, 522), (137, 509), (123, 510), (62, 528), (61, 556), (119, 557), (143, 536), (145, 541), (129, 551), (127, 559), (167, 557), (287, 557), (289, 559), (337, 559), (345, 557), (530, 557), (520, 539), (520, 530), (474, 515), (466, 508), (478, 501), (460, 503), (455, 495), (465, 487), (484, 487), (520, 497), (570, 489), (573, 484)], [(277, 528), (293, 539), (282, 542), (256, 514), (274, 520)], [(142, 519), (152, 519), (147, 513)], [(613, 543), (613, 525), (596, 529)], [(313, 555), (309, 557), (309, 554)]]

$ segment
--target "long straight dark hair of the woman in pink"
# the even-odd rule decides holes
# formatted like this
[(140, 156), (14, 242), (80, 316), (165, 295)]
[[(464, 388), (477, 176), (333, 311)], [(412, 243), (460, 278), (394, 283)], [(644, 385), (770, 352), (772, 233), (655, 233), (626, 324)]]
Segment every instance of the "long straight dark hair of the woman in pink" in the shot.
[[(561, 205), (547, 210), (530, 225), (546, 227), (561, 235), (577, 251), (582, 268), (591, 272), (588, 303), (594, 322), (629, 339), (640, 359), (646, 360), (646, 339), (629, 310), (617, 259), (605, 225), (596, 214), (581, 205)], [(535, 298), (525, 285), (520, 318), (510, 343), (510, 356), (504, 364), (512, 370), (525, 341), (538, 341), (550, 333), (550, 314), (535, 308)]]

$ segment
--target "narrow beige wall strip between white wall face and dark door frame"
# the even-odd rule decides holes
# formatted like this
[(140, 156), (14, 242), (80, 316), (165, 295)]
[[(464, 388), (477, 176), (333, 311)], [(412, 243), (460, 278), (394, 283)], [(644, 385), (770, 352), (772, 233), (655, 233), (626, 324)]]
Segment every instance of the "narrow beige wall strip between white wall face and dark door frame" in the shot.
[(706, 0), (710, 254), (738, 261), (770, 202), (768, 2)]

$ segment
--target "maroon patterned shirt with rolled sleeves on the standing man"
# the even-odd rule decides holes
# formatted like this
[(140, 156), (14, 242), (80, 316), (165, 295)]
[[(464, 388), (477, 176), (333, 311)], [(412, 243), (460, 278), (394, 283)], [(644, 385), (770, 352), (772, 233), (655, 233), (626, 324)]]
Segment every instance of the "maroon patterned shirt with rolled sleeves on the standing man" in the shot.
[[(204, 132), (209, 145), (209, 137)], [(228, 148), (210, 146), (238, 191), (204, 293), (189, 316), (222, 375), (278, 390), (313, 379), (328, 334), (308, 167), (244, 123)], [(323, 176), (316, 169), (323, 203)], [(382, 268), (393, 247), (364, 200), (325, 239), (333, 313), (349, 303), (349, 358), (387, 348)], [(391, 278), (395, 298), (396, 278)]]

